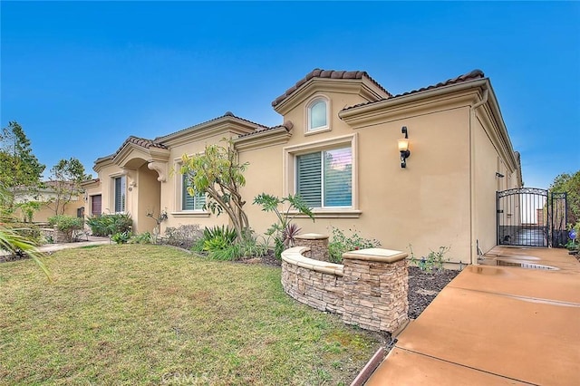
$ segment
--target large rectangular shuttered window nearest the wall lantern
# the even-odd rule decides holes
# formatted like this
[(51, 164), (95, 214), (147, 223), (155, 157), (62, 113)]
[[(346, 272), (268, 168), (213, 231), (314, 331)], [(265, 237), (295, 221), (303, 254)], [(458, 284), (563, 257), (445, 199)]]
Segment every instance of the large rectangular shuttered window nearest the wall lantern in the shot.
[(353, 206), (353, 152), (350, 146), (301, 154), (295, 159), (296, 193), (308, 206)]

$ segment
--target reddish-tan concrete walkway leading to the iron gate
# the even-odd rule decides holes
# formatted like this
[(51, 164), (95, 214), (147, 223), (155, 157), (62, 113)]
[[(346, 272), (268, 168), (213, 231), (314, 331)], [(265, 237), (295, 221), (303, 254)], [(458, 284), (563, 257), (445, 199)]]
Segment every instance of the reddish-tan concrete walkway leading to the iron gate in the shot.
[(506, 246), (482, 263), (411, 322), (367, 385), (580, 384), (580, 263)]

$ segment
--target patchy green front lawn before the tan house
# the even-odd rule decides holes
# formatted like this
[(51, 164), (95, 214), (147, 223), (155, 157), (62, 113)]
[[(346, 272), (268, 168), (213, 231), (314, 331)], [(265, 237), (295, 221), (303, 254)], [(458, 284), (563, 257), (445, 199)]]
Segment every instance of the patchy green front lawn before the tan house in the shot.
[(280, 268), (163, 246), (0, 264), (0, 384), (348, 384), (381, 337), (286, 295)]

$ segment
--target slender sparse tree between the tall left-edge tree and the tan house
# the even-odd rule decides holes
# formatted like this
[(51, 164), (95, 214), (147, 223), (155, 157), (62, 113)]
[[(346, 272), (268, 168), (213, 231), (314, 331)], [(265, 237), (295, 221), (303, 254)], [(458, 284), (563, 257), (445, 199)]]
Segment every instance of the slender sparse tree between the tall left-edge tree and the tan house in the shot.
[(51, 198), (49, 207), (54, 210), (55, 215), (63, 215), (66, 205), (82, 194), (82, 181), (91, 179), (92, 176), (84, 174), (84, 166), (80, 160), (61, 159), (51, 169), (51, 188), (55, 193), (55, 198)]

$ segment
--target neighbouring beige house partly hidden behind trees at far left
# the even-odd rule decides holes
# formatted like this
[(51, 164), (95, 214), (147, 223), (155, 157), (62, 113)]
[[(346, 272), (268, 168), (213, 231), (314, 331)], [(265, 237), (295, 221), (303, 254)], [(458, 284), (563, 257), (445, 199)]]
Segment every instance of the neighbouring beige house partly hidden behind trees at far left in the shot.
[[(68, 182), (62, 182), (62, 184), (67, 184)], [(33, 222), (34, 223), (47, 223), (49, 217), (53, 217), (56, 213), (54, 211), (54, 201), (58, 198), (55, 191), (57, 186), (56, 181), (44, 181), (44, 187), (34, 189), (31, 191), (30, 188), (17, 187), (14, 188), (14, 203), (21, 204), (24, 202), (38, 202), (40, 204), (40, 209), (34, 211)], [(62, 207), (63, 203), (60, 204)], [(73, 217), (84, 216), (84, 200), (82, 195), (73, 195), (71, 200), (64, 207), (64, 214)], [(24, 213), (18, 209), (15, 215), (21, 220), (24, 220)]]

